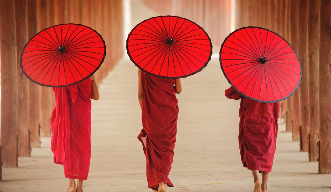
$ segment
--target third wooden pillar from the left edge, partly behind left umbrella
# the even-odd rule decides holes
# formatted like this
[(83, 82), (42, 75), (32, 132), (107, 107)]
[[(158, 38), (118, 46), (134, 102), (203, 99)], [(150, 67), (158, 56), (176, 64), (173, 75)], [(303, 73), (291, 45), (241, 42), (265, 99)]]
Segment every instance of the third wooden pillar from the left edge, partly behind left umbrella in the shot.
[[(37, 33), (37, 1), (26, 0), (27, 5), (27, 38), (32, 38)], [(40, 147), (39, 124), (39, 90), (40, 85), (28, 81), (29, 84), (29, 128), (31, 147)]]

